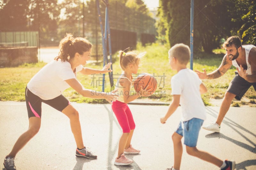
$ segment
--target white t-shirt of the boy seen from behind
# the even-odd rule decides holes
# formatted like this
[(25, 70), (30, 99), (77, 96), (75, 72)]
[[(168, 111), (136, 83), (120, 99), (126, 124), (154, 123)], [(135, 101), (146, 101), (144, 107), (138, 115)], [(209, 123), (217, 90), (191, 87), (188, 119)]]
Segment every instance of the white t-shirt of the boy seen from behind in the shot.
[(201, 83), (202, 80), (190, 69), (180, 70), (172, 77), (172, 95), (180, 95), (182, 121), (192, 118), (206, 119), (206, 110), (199, 91)]

